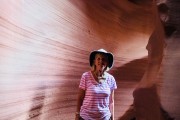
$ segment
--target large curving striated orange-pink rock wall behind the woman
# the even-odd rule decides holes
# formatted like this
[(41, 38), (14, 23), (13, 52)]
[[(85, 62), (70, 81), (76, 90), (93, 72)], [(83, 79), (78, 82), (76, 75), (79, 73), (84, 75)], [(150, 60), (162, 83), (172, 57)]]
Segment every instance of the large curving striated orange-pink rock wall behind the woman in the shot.
[[(133, 64), (145, 65), (135, 77), (118, 74), (120, 67), (148, 55), (146, 45), (155, 27), (148, 2), (3, 0), (0, 11), (2, 120), (74, 119), (79, 80), (89, 70), (94, 49), (114, 54), (112, 73), (120, 88), (126, 85), (121, 80), (138, 81), (145, 71), (146, 60)], [(132, 102), (130, 94), (123, 96), (129, 99), (125, 102), (118, 93), (115, 118)]]

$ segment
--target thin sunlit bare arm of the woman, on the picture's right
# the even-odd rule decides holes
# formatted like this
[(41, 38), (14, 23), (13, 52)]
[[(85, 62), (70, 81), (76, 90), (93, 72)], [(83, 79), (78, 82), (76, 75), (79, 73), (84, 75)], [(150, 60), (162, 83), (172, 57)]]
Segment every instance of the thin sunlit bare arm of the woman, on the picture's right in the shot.
[(112, 115), (112, 120), (114, 120), (114, 90), (111, 91), (109, 108)]

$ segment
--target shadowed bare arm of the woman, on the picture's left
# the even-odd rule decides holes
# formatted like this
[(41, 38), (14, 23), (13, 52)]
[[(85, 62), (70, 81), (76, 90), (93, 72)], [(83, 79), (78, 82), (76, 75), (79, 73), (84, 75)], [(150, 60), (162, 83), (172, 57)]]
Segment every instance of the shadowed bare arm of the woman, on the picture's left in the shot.
[(77, 108), (76, 108), (76, 119), (75, 120), (79, 120), (80, 109), (81, 109), (81, 106), (82, 106), (82, 103), (84, 100), (84, 96), (85, 96), (85, 90), (79, 88), (78, 98), (77, 98)]

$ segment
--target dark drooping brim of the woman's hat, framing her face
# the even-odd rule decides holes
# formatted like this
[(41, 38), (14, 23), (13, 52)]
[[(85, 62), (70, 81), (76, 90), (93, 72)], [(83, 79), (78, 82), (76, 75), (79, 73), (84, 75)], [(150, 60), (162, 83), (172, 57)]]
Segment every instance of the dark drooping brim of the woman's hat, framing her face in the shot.
[(114, 62), (113, 54), (110, 53), (110, 52), (101, 52), (101, 51), (93, 51), (93, 52), (91, 52), (90, 57), (89, 57), (90, 66), (91, 66), (91, 67), (93, 66), (93, 61), (94, 61), (95, 55), (96, 55), (97, 53), (102, 53), (102, 54), (107, 55), (107, 57), (108, 57), (108, 67), (109, 67), (109, 68), (112, 68), (113, 62)]

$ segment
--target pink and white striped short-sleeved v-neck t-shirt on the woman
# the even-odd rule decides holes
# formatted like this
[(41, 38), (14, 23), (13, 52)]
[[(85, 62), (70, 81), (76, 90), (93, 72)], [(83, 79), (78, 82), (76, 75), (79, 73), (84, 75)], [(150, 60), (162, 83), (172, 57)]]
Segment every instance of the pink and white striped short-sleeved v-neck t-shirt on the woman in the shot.
[(85, 98), (80, 110), (80, 116), (85, 120), (109, 120), (109, 97), (111, 91), (117, 88), (112, 75), (106, 73), (103, 83), (98, 83), (91, 71), (83, 73), (79, 88), (85, 90)]

